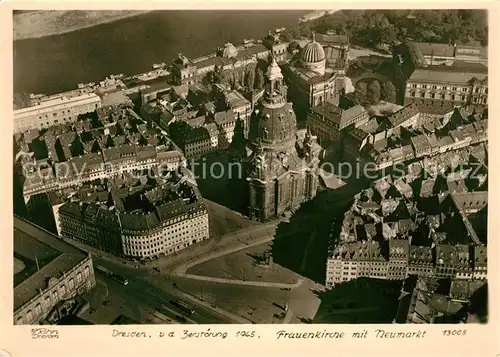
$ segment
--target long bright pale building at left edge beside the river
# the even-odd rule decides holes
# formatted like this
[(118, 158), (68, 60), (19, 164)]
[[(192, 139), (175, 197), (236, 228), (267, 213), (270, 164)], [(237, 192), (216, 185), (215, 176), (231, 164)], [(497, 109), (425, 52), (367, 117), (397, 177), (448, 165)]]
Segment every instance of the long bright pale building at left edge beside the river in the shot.
[(91, 113), (101, 105), (101, 98), (94, 93), (44, 100), (14, 111), (14, 133), (75, 122), (80, 114)]

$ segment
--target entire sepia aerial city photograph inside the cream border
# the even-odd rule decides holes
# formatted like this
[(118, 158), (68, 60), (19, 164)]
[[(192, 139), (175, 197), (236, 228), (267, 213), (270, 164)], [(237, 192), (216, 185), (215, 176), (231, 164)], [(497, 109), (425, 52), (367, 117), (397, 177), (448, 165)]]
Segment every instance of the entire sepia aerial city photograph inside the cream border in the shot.
[(13, 324), (488, 322), (487, 10), (12, 19)]

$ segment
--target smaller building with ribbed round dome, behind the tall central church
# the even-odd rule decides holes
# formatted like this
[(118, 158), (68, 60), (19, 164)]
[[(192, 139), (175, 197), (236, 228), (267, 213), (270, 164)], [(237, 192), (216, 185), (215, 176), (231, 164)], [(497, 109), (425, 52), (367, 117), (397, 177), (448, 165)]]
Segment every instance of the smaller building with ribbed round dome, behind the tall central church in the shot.
[[(334, 58), (335, 57), (335, 58)], [(344, 65), (339, 66), (341, 57)], [(290, 98), (299, 113), (326, 101), (337, 102), (344, 88), (347, 51), (337, 51), (333, 46), (312, 39), (286, 67)]]

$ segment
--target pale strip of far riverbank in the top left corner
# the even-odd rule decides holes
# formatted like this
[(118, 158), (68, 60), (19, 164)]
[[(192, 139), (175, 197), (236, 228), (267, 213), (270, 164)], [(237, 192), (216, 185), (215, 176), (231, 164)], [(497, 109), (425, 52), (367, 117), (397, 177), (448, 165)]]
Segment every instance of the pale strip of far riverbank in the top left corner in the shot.
[(48, 10), (15, 14), (14, 40), (60, 35), (149, 11)]

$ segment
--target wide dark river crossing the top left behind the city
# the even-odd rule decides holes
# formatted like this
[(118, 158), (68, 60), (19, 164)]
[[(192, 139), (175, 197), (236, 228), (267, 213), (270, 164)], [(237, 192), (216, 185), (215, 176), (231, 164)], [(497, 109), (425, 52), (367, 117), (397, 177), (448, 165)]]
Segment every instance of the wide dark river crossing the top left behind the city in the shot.
[(14, 41), (14, 92), (57, 93), (109, 74), (131, 75), (177, 53), (197, 57), (227, 41), (290, 27), (306, 10), (154, 11), (77, 31)]

